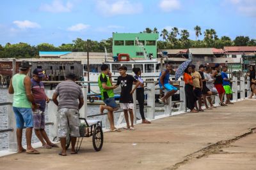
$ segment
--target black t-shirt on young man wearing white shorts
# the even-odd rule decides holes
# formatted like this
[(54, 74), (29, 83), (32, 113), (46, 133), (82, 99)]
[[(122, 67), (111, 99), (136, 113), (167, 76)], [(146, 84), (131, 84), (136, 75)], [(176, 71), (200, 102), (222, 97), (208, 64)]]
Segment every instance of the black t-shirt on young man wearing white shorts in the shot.
[(118, 76), (116, 85), (121, 84), (120, 103), (133, 103), (132, 94), (130, 94), (133, 82), (136, 80), (129, 74), (126, 74), (125, 77)]

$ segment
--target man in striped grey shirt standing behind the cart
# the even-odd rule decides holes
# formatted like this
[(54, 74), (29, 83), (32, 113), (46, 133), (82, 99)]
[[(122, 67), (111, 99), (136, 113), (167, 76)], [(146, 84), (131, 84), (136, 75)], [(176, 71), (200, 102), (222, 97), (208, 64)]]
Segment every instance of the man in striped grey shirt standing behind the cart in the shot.
[[(66, 80), (57, 85), (52, 96), (52, 101), (58, 106), (58, 138), (60, 138), (61, 152), (59, 155), (66, 156), (66, 137), (70, 130), (71, 154), (76, 154), (76, 138), (79, 134), (79, 110), (84, 104), (81, 87), (74, 81), (76, 75), (68, 73)], [(57, 97), (59, 96), (59, 101)]]

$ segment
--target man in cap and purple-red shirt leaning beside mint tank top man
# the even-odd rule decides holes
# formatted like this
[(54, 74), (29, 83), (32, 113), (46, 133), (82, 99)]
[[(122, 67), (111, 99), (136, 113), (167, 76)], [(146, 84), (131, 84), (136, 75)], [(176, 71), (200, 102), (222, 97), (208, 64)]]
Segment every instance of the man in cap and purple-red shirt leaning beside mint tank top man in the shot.
[(33, 71), (33, 78), (31, 79), (31, 91), (35, 100), (35, 103), (39, 105), (39, 108), (33, 111), (34, 129), (37, 138), (41, 141), (43, 148), (51, 149), (52, 147), (58, 147), (53, 144), (48, 138), (45, 132), (45, 102), (49, 103), (49, 98), (44, 92), (44, 83), (42, 79), (44, 73), (42, 69), (35, 69)]

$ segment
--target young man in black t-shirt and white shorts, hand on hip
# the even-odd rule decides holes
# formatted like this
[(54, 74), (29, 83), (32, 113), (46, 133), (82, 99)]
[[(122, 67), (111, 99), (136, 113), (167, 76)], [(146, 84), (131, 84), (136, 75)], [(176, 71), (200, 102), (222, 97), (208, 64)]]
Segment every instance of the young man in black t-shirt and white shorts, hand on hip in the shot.
[[(121, 94), (120, 94), (120, 108), (124, 110), (124, 117), (125, 117), (125, 122), (127, 124), (127, 129), (134, 129), (133, 126), (133, 120), (134, 120), (134, 115), (133, 115), (133, 99), (132, 99), (132, 94), (134, 90), (141, 84), (140, 81), (137, 81), (133, 76), (126, 74), (127, 67), (121, 66), (118, 69), (119, 73), (121, 76), (118, 76), (117, 78), (117, 83), (116, 85), (121, 85)], [(134, 89), (132, 89), (133, 83), (136, 83), (136, 86)], [(131, 118), (131, 126), (129, 124), (129, 116), (128, 116), (128, 111), (130, 113), (130, 118)]]

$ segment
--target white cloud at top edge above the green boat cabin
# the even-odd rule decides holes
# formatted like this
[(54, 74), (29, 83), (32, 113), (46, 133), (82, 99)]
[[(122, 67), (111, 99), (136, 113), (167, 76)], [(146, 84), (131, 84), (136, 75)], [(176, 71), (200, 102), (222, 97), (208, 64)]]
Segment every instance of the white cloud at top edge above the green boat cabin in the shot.
[(141, 3), (131, 3), (128, 0), (97, 0), (96, 8), (106, 16), (131, 15), (143, 11)]

